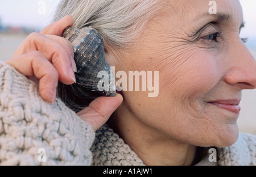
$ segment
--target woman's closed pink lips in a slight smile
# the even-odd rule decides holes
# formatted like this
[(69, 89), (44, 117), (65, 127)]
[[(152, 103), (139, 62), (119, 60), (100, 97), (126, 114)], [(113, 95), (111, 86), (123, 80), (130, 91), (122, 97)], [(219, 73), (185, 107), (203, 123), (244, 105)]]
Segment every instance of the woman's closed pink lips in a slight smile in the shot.
[(239, 106), (240, 100), (216, 100), (208, 103), (213, 104), (214, 106), (217, 106), (222, 109), (227, 109), (228, 111), (231, 111), (236, 114), (240, 113), (241, 111), (241, 107)]

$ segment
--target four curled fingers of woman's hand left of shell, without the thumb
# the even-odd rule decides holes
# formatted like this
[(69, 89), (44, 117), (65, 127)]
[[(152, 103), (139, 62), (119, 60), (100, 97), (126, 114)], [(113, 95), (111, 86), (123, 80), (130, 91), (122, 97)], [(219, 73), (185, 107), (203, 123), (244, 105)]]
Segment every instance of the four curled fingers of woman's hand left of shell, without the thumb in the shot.
[(40, 33), (31, 33), (6, 61), (27, 77), (38, 78), (40, 95), (49, 103), (55, 102), (58, 80), (66, 85), (75, 82), (73, 48), (61, 37), (69, 26), (73, 26), (72, 16), (50, 24)]

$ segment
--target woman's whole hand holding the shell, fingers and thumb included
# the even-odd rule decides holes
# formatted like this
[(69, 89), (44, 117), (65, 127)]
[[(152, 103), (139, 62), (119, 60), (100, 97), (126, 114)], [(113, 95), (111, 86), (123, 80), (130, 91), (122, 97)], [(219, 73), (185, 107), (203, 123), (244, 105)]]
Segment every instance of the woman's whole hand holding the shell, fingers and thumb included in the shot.
[[(39, 81), (39, 92), (44, 100), (55, 102), (58, 81), (65, 85), (76, 82), (76, 64), (73, 48), (62, 37), (67, 27), (73, 26), (71, 15), (52, 23), (40, 33), (31, 33), (14, 53), (7, 64), (20, 73)], [(102, 96), (77, 115), (97, 130), (106, 123), (112, 113), (122, 103), (122, 96), (113, 98)]]

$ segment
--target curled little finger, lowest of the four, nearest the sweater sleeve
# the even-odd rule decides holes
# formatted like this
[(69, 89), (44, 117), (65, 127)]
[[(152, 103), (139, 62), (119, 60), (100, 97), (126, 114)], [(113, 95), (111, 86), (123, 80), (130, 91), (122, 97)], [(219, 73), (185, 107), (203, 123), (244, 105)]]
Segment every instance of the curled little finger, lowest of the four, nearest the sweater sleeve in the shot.
[(42, 98), (49, 103), (55, 102), (59, 76), (42, 53), (38, 51), (26, 53), (13, 57), (6, 63), (28, 77), (35, 75), (39, 79), (39, 92)]

